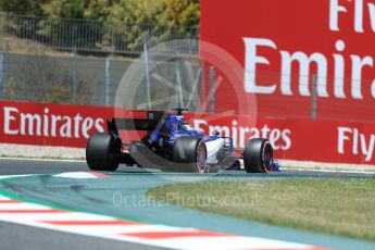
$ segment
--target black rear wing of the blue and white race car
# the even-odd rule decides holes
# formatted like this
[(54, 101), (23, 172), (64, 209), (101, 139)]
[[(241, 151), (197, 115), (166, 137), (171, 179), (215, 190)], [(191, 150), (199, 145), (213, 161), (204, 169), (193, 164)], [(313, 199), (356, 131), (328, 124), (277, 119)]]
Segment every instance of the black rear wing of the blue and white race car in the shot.
[[(142, 112), (143, 114), (143, 112)], [(118, 135), (118, 130), (153, 132), (164, 116), (163, 111), (145, 111), (142, 116), (137, 118), (113, 117), (107, 121), (108, 132)]]

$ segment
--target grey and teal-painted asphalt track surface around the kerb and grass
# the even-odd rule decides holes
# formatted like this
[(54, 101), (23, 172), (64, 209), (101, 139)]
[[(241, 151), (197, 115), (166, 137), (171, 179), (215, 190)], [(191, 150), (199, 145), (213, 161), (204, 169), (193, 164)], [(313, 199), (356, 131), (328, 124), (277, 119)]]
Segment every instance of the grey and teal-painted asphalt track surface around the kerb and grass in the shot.
[[(72, 210), (105, 214), (138, 222), (160, 223), (180, 227), (198, 227), (228, 234), (268, 237), (292, 242), (324, 246), (334, 249), (375, 249), (375, 242), (327, 236), (310, 232), (245, 222), (174, 205), (148, 203), (145, 192), (152, 187), (174, 182), (196, 182), (210, 178), (273, 179), (273, 178), (335, 178), (366, 177), (368, 174), (346, 174), (307, 171), (283, 171), (271, 175), (249, 175), (245, 172), (220, 174), (158, 173), (121, 167), (103, 179), (66, 179), (52, 175), (64, 172), (87, 172), (85, 162), (0, 160), (0, 175), (36, 174), (37, 176), (0, 182), (0, 189), (9, 193), (60, 205)], [(120, 200), (114, 201), (114, 195)], [(160, 249), (145, 245), (116, 241), (70, 233), (61, 233), (13, 223), (0, 222), (0, 249)]]

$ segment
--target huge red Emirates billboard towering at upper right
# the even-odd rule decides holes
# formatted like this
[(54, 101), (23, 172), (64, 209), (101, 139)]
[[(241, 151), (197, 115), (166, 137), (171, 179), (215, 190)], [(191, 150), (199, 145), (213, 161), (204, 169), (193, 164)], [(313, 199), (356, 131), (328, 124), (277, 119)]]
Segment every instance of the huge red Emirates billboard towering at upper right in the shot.
[(375, 121), (374, 1), (202, 0), (200, 30), (243, 71), (221, 84), (217, 111), (236, 108), (235, 84), (260, 116), (309, 117), (315, 83), (318, 118)]

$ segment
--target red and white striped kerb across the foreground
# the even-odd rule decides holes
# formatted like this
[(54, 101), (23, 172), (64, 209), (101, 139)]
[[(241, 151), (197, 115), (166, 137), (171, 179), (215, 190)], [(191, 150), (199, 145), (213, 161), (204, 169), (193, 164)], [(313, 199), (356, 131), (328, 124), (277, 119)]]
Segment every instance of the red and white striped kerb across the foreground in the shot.
[(61, 211), (47, 205), (12, 200), (4, 196), (0, 196), (0, 220), (52, 230), (172, 249), (315, 249), (313, 246), (280, 240), (220, 234), (198, 228), (152, 225), (90, 213)]

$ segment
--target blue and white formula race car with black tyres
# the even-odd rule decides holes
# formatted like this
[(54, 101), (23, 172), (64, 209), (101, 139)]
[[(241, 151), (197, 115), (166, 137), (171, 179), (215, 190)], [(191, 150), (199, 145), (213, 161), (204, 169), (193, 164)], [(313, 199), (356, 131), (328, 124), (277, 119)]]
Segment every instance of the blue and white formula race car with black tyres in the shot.
[[(273, 148), (268, 140), (249, 139), (245, 150), (237, 152), (233, 139), (220, 133), (204, 136), (191, 127), (183, 115), (147, 111), (145, 118), (112, 118), (107, 121), (108, 133), (95, 133), (87, 142), (86, 161), (93, 171), (115, 171), (120, 163), (146, 168), (174, 172), (213, 172), (221, 168), (240, 170), (243, 158), (248, 173), (268, 173), (273, 170)], [(120, 129), (143, 130), (138, 141), (123, 142)], [(234, 153), (239, 157), (234, 157)]]

